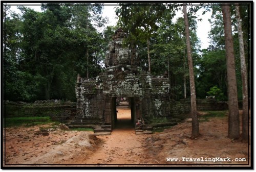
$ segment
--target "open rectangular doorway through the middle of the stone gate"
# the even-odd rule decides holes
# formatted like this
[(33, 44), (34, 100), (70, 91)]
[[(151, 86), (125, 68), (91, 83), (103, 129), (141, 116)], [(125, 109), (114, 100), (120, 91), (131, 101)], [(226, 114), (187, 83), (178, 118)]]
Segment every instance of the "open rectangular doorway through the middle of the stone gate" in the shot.
[(134, 128), (135, 111), (133, 97), (115, 97), (114, 129)]

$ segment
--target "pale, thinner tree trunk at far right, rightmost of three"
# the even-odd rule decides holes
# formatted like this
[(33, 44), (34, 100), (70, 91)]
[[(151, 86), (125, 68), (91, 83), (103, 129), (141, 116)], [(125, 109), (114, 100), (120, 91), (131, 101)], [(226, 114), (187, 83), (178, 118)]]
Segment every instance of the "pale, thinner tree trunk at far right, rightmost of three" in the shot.
[(243, 119), (242, 119), (242, 141), (248, 142), (248, 86), (247, 86), (247, 69), (244, 55), (244, 39), (241, 24), (241, 17), (239, 12), (239, 6), (236, 4), (236, 16), (238, 22), (238, 38), (239, 38), (239, 50), (241, 60), (241, 75), (242, 75), (242, 92), (243, 92)]

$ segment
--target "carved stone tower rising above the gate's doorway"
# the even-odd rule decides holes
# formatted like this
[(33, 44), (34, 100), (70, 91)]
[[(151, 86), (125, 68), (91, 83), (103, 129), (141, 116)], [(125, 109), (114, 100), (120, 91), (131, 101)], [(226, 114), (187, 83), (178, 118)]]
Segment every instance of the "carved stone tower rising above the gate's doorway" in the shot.
[(140, 71), (137, 66), (138, 53), (135, 48), (123, 47), (126, 33), (118, 29), (109, 42), (109, 51), (106, 52), (105, 75), (103, 93), (110, 97), (142, 97), (142, 87), (136, 74)]

